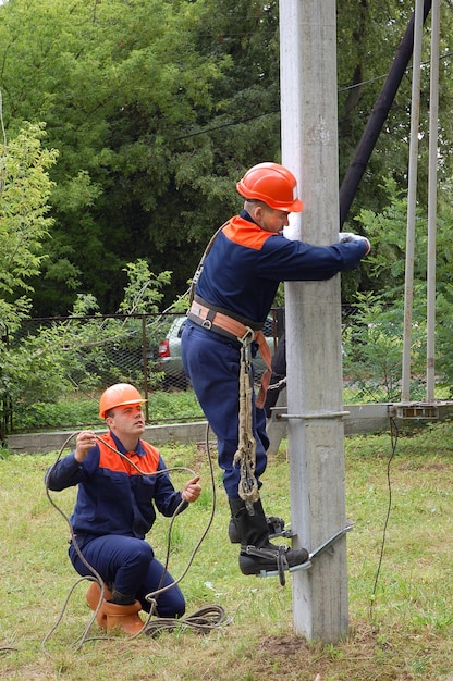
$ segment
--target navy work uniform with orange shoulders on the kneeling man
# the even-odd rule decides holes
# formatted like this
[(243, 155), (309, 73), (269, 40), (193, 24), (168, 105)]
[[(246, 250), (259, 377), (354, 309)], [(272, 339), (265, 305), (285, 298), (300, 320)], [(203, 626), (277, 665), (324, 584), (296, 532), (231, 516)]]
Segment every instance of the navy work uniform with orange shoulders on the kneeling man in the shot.
[[(74, 451), (51, 467), (46, 474), (49, 490), (59, 492), (78, 485), (70, 518), (75, 541), (88, 566), (121, 594), (134, 595), (144, 610), (150, 610), (147, 594), (174, 583), (155, 558), (145, 535), (156, 520), (156, 508), (171, 517), (182, 502), (164, 471), (156, 447), (139, 439), (134, 451), (126, 451), (111, 432), (101, 436), (79, 463)], [(111, 449), (123, 454), (127, 460)], [(181, 510), (187, 507), (183, 503)], [(93, 571), (78, 556), (72, 542), (69, 556), (83, 577)], [(184, 596), (176, 584), (158, 596), (161, 617), (185, 611)]]

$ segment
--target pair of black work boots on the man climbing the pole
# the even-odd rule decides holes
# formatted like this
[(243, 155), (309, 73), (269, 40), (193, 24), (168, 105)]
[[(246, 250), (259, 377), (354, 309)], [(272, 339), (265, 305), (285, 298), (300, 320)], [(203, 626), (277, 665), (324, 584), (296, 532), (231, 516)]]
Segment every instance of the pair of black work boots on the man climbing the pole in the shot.
[(305, 548), (293, 549), (269, 542), (269, 527), (260, 499), (253, 504), (253, 515), (242, 499), (229, 502), (241, 537), (240, 569), (243, 574), (277, 570), (282, 577), (284, 570), (308, 560)]

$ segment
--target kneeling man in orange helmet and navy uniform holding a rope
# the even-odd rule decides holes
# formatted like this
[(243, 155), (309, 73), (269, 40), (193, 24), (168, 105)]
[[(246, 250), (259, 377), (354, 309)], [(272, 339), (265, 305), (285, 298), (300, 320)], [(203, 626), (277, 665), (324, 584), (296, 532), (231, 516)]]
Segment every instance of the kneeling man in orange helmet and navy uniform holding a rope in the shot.
[[(97, 621), (103, 629), (134, 634), (143, 628), (139, 610), (150, 611), (146, 595), (173, 584), (157, 596), (160, 617), (181, 617), (184, 596), (173, 578), (155, 558), (145, 535), (156, 520), (156, 510), (171, 517), (183, 503), (195, 502), (201, 492), (198, 478), (176, 492), (164, 471), (158, 449), (140, 436), (145, 431), (142, 404), (146, 401), (128, 383), (118, 383), (101, 395), (99, 416), (109, 432), (77, 435), (75, 449), (46, 474), (49, 490), (78, 485), (71, 524), (76, 544), (88, 566), (101, 577), (105, 587)], [(71, 543), (69, 556), (83, 577), (94, 573)], [(87, 602), (96, 609), (100, 586), (94, 582)]]

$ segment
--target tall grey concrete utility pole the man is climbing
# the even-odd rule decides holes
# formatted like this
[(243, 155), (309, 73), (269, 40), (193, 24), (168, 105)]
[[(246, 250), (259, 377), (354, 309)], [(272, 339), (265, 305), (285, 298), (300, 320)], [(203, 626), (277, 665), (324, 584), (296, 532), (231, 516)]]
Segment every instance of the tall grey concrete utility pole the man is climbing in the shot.
[[(280, 0), (282, 162), (306, 208), (290, 238), (338, 240), (334, 0)], [(340, 277), (286, 284), (292, 528), (313, 550), (345, 524)], [(293, 573), (294, 623), (309, 640), (347, 633), (346, 541)]]

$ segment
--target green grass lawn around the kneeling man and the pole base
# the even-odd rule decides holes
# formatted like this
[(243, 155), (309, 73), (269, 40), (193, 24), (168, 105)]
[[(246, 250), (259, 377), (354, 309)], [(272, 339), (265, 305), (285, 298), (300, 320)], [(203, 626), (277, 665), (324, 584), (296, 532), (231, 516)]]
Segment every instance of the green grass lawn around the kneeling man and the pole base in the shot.
[[(269, 461), (264, 503), (287, 516), (285, 442)], [(392, 506), (376, 597), (375, 579), (389, 505), (390, 434), (354, 436), (346, 448), (350, 633), (333, 644), (307, 642), (293, 628), (291, 578), (244, 577), (237, 547), (228, 542), (229, 511), (215, 468), (212, 527), (182, 581), (187, 614), (218, 604), (231, 623), (208, 635), (166, 632), (157, 639), (101, 639), (76, 648), (90, 611), (86, 584), (76, 582), (68, 557), (68, 525), (46, 496), (44, 473), (56, 458), (11, 456), (0, 460), (0, 677), (10, 680), (108, 681), (445, 681), (453, 673), (452, 518), (453, 425), (426, 425), (401, 435), (390, 463)], [(199, 504), (176, 519), (170, 553), (175, 578), (208, 523), (212, 507), (203, 446), (161, 447), (168, 466), (201, 474)], [(215, 456), (215, 453), (212, 453)], [(187, 473), (173, 474), (176, 486)], [(69, 513), (74, 491), (51, 497)], [(169, 519), (158, 518), (150, 542), (167, 550)], [(318, 676), (319, 674), (319, 676)]]

